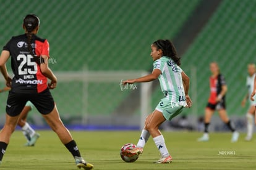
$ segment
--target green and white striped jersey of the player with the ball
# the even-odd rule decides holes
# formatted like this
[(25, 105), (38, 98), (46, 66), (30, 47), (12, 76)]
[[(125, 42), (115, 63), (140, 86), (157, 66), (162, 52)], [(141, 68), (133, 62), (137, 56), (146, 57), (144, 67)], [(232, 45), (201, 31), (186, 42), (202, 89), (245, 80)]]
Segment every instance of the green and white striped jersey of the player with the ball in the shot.
[(171, 102), (185, 101), (185, 92), (182, 83), (182, 69), (173, 59), (169, 57), (161, 57), (153, 63), (154, 70), (159, 69), (161, 75), (158, 77), (160, 81), (161, 91)]

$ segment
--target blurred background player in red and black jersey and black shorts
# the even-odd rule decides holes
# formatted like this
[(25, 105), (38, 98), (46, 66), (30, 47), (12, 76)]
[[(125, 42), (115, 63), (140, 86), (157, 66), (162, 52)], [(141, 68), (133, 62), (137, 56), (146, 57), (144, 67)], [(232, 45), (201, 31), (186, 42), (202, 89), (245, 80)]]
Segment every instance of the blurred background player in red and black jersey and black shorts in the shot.
[(236, 131), (234, 124), (228, 118), (225, 105), (225, 95), (228, 91), (226, 81), (224, 76), (220, 73), (218, 63), (210, 63), (210, 71), (210, 97), (208, 99), (207, 107), (205, 108), (205, 132), (203, 136), (198, 139), (198, 141), (209, 140), (208, 126), (210, 124), (211, 116), (216, 110), (218, 111), (221, 120), (226, 123), (229, 129), (233, 132), (231, 142), (236, 142), (238, 140), (239, 133)]

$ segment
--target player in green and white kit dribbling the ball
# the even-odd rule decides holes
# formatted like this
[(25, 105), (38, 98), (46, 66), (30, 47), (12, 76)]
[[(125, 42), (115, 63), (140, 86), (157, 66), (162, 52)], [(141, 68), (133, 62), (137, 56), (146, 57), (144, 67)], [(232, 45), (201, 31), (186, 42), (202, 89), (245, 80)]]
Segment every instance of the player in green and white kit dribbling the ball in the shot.
[(128, 79), (122, 84), (133, 84), (153, 81), (158, 78), (164, 98), (161, 99), (153, 113), (147, 116), (137, 147), (133, 150), (125, 150), (125, 156), (140, 155), (143, 152), (150, 135), (161, 153), (160, 160), (155, 163), (171, 163), (173, 158), (164, 143), (164, 137), (159, 126), (166, 120), (171, 120), (184, 107), (191, 107), (192, 100), (189, 97), (189, 77), (182, 71), (181, 59), (176, 49), (168, 39), (159, 39), (151, 44), (151, 57), (153, 58), (153, 71), (150, 75), (137, 79)]

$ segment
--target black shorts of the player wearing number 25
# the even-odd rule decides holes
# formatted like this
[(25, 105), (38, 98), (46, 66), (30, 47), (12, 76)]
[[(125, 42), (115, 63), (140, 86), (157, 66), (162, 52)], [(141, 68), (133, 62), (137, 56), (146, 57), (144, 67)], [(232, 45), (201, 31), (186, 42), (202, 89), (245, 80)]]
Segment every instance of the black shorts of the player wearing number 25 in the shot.
[(21, 113), (27, 101), (35, 105), (35, 108), (43, 115), (47, 115), (53, 111), (54, 100), (49, 89), (38, 94), (24, 94), (9, 91), (6, 113), (9, 116), (17, 116)]

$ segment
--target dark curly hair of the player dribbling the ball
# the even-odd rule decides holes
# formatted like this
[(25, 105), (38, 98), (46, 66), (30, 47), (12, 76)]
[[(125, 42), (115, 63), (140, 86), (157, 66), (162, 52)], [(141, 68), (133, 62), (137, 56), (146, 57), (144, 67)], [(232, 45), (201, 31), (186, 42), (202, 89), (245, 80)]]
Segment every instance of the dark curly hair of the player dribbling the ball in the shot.
[(181, 65), (181, 58), (177, 55), (173, 42), (169, 41), (169, 39), (158, 39), (153, 42), (153, 46), (158, 50), (161, 49), (163, 56), (170, 57), (177, 65)]

